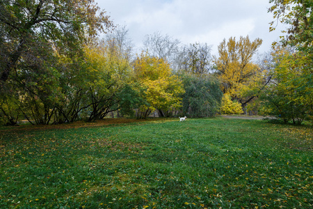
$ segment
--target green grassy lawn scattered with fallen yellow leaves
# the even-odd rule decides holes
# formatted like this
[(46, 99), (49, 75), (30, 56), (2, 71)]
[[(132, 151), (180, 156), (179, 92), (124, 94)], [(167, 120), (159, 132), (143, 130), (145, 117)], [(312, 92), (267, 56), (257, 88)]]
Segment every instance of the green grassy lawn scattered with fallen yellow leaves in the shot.
[(312, 208), (312, 127), (0, 127), (0, 208)]

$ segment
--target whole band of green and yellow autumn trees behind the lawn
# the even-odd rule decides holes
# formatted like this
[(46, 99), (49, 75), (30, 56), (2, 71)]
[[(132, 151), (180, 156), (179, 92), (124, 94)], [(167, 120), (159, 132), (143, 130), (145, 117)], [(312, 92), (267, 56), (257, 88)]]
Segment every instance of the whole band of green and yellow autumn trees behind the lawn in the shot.
[[(285, 2), (276, 4), (271, 11), (283, 14)], [(262, 55), (259, 38), (223, 40), (211, 56), (206, 43), (181, 45), (161, 33), (147, 35), (135, 55), (125, 26), (113, 26), (93, 0), (1, 1), (0, 13), (2, 124), (95, 121), (111, 112), (312, 120), (312, 41), (297, 40), (296, 29)]]

